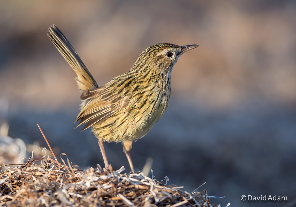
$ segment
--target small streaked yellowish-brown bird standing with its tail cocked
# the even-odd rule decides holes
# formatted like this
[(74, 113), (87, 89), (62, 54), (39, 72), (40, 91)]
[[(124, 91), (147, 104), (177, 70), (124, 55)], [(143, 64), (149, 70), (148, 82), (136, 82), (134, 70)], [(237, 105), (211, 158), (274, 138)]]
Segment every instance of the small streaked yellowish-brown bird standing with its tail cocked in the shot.
[(122, 142), (131, 171), (132, 143), (144, 137), (163, 116), (170, 100), (170, 82), (173, 66), (185, 52), (198, 45), (179, 46), (158, 43), (146, 48), (131, 69), (99, 86), (65, 35), (51, 25), (49, 39), (75, 71), (81, 91), (77, 127), (82, 131), (91, 127), (98, 139), (105, 169), (109, 163), (104, 142)]

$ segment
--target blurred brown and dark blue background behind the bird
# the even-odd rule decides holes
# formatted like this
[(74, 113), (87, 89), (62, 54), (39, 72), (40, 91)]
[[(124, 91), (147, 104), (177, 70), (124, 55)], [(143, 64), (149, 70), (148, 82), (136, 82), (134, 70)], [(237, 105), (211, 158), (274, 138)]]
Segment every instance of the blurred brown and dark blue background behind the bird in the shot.
[[(150, 45), (198, 44), (173, 69), (166, 114), (133, 144), (136, 170), (152, 158), (158, 180), (168, 176), (188, 192), (207, 182), (199, 191), (226, 196), (211, 199), (221, 206), (293, 206), (295, 1), (0, 3), (0, 124), (24, 141), (27, 154), (46, 146), (39, 123), (57, 154), (66, 153), (80, 169), (104, 166), (91, 131), (74, 129), (81, 94), (75, 73), (47, 38), (49, 25), (62, 30), (99, 85), (127, 72)], [(124, 165), (128, 172), (122, 145), (105, 149), (113, 168)], [(288, 202), (240, 200), (266, 194)]]

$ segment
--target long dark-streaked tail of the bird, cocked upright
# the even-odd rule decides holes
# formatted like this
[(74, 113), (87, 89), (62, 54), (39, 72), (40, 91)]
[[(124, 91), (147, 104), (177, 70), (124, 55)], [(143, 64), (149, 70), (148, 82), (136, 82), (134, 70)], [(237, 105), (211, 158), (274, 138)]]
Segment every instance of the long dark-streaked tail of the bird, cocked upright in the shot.
[(77, 52), (59, 28), (57, 28), (56, 25), (50, 26), (47, 35), (77, 74), (76, 83), (79, 90), (83, 92), (98, 88), (91, 73), (85, 67)]

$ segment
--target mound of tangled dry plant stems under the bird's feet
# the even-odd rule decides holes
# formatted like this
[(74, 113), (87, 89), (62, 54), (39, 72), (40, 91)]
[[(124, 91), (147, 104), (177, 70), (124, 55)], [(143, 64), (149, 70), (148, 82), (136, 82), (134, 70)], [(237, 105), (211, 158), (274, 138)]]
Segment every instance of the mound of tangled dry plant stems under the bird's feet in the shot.
[(206, 192), (187, 193), (141, 172), (122, 174), (124, 167), (79, 170), (68, 159), (67, 164), (50, 157), (39, 161), (4, 166), (0, 206), (216, 206)]

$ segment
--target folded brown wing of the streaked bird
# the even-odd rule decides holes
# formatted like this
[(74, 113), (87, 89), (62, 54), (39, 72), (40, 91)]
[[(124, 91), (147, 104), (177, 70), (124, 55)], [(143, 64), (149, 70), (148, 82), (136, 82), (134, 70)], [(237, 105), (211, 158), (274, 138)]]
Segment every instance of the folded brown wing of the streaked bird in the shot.
[(126, 108), (132, 96), (128, 95), (122, 97), (119, 94), (114, 95), (112, 93), (106, 93), (105, 90), (95, 90), (90, 91), (89, 94), (81, 98), (83, 99), (85, 97), (93, 98), (88, 101), (77, 116), (76, 122), (80, 120), (77, 127), (81, 124), (85, 124), (82, 130), (99, 122), (103, 122), (121, 109)]

